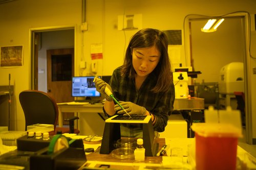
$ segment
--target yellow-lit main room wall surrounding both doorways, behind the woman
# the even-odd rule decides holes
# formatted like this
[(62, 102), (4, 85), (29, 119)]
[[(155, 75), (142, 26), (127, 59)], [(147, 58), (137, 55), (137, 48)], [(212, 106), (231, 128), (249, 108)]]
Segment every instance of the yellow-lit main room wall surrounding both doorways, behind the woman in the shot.
[[(221, 8), (220, 8), (221, 6)], [(30, 88), (30, 37), (29, 30), (35, 28), (72, 25), (76, 27), (76, 75), (90, 74), (90, 67), (79, 68), (80, 60), (91, 63), (91, 44), (103, 44), (103, 62), (99, 61), (102, 75), (111, 75), (112, 71), (123, 62), (124, 49), (130, 37), (137, 31), (117, 31), (117, 16), (122, 14), (142, 14), (142, 28), (160, 30), (183, 30), (183, 21), (188, 14), (224, 15), (235, 11), (256, 13), (256, 2), (245, 1), (174, 1), (174, 0), (88, 0), (86, 3), (86, 20), (88, 31), (82, 32), (81, 1), (78, 0), (17, 0), (0, 5), (0, 46), (24, 45), (24, 65), (17, 68), (0, 68), (0, 85), (8, 84), (8, 74), (12, 75), (11, 83), (15, 85), (17, 130), (24, 130), (25, 120), (18, 102), (20, 91)], [(210, 8), (209, 8), (210, 7)], [(254, 21), (252, 20), (252, 24)], [(251, 32), (255, 39), (255, 31)], [(81, 41), (84, 41), (84, 44)], [(253, 42), (254, 41), (254, 42)], [(255, 40), (252, 41), (252, 56), (256, 56)], [(83, 48), (82, 48), (83, 47)], [(185, 61), (184, 45), (181, 47), (181, 60)], [(113, 62), (114, 60), (114, 62)], [(255, 59), (250, 58), (250, 67), (256, 66)], [(102, 66), (101, 66), (102, 64)], [(185, 65), (185, 63), (183, 64)], [(252, 84), (256, 75), (249, 72)], [(252, 101), (256, 101), (256, 90), (250, 89)], [(253, 97), (254, 96), (254, 97)], [(253, 127), (256, 129), (256, 106), (252, 106)], [(256, 131), (253, 132), (256, 138)]]

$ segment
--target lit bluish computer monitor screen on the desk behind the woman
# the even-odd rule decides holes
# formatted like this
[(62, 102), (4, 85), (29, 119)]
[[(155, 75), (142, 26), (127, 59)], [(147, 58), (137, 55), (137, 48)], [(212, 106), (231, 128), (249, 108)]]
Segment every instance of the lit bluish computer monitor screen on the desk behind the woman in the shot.
[(73, 77), (72, 78), (72, 96), (73, 97), (99, 97), (100, 93), (96, 90), (93, 79), (94, 79), (94, 76)]

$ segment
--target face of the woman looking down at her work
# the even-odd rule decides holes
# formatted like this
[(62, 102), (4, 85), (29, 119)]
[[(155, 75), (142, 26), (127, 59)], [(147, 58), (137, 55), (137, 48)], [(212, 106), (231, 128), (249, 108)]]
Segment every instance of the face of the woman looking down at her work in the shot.
[(137, 76), (148, 76), (156, 68), (160, 56), (155, 45), (146, 48), (133, 48), (133, 67)]

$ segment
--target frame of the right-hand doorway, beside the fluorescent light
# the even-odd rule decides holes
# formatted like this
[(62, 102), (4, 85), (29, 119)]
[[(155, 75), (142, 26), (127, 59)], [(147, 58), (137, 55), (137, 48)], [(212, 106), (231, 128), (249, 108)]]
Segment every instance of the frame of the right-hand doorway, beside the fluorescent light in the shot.
[[(191, 43), (190, 43), (190, 26), (189, 22), (192, 19), (200, 19), (200, 18), (209, 18), (209, 17), (218, 17), (218, 16), (203, 16), (203, 15), (187, 15), (184, 19), (184, 49), (185, 49), (185, 58), (187, 58), (186, 65), (191, 65)], [(222, 17), (243, 17), (243, 30), (244, 30), (244, 90), (245, 90), (245, 112), (246, 112), (246, 143), (252, 144), (252, 104), (251, 104), (251, 94), (249, 93), (249, 89), (252, 89), (251, 86), (251, 77), (248, 76), (250, 72), (250, 14), (247, 12), (239, 12), (239, 13), (230, 13), (223, 15)], [(185, 36), (187, 35), (187, 36)]]

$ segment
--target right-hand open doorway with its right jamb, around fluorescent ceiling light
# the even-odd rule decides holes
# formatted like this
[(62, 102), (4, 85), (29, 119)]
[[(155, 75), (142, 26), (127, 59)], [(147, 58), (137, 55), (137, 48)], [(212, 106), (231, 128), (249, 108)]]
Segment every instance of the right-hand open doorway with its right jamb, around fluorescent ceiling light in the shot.
[[(251, 102), (249, 101), (248, 89), (250, 89), (248, 75), (248, 14), (228, 14), (223, 16), (224, 22), (216, 32), (202, 33), (209, 17), (190, 16), (187, 18), (187, 41), (189, 41), (190, 64), (195, 70), (202, 74), (197, 82), (214, 83), (219, 82), (221, 68), (230, 62), (243, 62), (244, 64), (244, 93), (246, 126), (244, 127), (244, 138), (246, 143), (252, 143), (251, 129)], [(235, 98), (234, 98), (235, 99)]]

